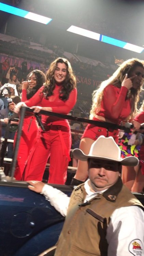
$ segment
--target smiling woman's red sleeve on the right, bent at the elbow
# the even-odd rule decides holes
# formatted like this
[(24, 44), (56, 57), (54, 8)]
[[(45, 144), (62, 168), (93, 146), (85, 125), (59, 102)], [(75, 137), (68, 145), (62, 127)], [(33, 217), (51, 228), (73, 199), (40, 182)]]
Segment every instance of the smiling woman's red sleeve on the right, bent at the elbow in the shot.
[(76, 103), (76, 98), (77, 98), (77, 90), (76, 90), (76, 88), (74, 88), (71, 91), (68, 100), (66, 100), (64, 102), (64, 105), (52, 107), (52, 112), (68, 114), (70, 112), (70, 110), (74, 107), (74, 105)]

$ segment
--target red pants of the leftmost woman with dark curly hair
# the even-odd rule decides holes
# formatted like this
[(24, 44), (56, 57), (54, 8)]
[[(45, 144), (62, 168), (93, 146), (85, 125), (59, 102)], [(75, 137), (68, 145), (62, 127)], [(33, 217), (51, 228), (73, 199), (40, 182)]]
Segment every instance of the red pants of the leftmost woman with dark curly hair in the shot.
[[(39, 126), (35, 116), (32, 116), (32, 115), (30, 116), (29, 114), (26, 115), (26, 117), (24, 118), (21, 138), (19, 142), (17, 165), (15, 169), (15, 174), (14, 174), (14, 177), (18, 181), (23, 180), (23, 173), (26, 167), (27, 159), (31, 151), (31, 148), (33, 147), (33, 145), (35, 144), (35, 141), (37, 140), (38, 131), (39, 131)], [(14, 146), (15, 146), (16, 136), (17, 136), (17, 133), (15, 134), (15, 138), (14, 138)]]

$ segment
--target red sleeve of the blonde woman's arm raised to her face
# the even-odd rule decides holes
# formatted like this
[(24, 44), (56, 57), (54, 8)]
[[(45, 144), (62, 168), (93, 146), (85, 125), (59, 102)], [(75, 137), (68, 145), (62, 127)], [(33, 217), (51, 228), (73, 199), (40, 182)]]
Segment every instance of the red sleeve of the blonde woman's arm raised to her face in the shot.
[(117, 91), (117, 87), (107, 85), (104, 89), (103, 106), (105, 113), (114, 119), (118, 119), (126, 100), (128, 89), (125, 86)]

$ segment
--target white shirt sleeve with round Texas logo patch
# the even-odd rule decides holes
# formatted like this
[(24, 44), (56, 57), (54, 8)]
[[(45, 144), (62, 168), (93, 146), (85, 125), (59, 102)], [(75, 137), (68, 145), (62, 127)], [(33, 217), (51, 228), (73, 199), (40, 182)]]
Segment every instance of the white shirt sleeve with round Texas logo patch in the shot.
[(107, 227), (108, 256), (144, 255), (144, 212), (137, 206), (115, 210)]

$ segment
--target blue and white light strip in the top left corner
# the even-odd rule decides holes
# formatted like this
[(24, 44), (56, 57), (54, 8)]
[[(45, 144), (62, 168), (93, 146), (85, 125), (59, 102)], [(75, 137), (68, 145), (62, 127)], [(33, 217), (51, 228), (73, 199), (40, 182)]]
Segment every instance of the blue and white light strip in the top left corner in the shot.
[(43, 24), (48, 24), (49, 22), (51, 22), (51, 18), (36, 14), (36, 13), (32, 13), (32, 12), (28, 12), (19, 8), (16, 8), (14, 6), (8, 5), (8, 4), (4, 4), (4, 3), (0, 3), (0, 11), (3, 12), (8, 12), (26, 19), (31, 19), (34, 20), (36, 22), (40, 22)]

